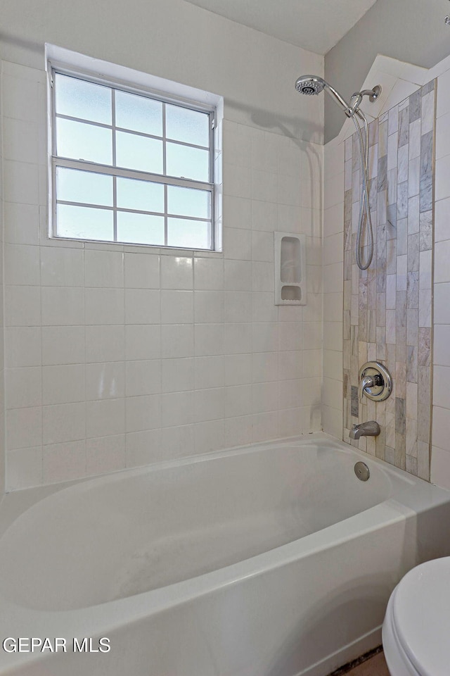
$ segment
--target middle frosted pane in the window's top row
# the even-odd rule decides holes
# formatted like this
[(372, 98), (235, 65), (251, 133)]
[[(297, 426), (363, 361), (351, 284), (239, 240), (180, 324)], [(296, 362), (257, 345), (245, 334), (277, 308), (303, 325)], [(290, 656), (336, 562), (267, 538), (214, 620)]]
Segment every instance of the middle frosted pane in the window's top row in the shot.
[(115, 92), (116, 127), (162, 136), (162, 103), (145, 96)]

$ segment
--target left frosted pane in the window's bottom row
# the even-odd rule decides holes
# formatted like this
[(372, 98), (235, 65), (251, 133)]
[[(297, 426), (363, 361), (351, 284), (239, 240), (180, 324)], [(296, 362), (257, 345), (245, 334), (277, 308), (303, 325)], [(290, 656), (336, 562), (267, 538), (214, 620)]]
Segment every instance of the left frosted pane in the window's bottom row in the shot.
[(58, 204), (57, 236), (70, 239), (114, 239), (114, 215), (109, 209)]

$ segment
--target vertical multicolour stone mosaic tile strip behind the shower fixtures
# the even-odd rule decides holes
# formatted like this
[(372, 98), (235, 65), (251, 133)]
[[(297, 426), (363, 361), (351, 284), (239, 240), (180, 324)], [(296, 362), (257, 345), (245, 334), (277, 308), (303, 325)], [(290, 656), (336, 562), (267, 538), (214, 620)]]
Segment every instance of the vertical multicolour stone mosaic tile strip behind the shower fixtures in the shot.
[[(434, 81), (369, 127), (368, 270), (354, 255), (362, 181), (356, 133), (345, 142), (343, 438), (354, 423), (377, 420), (380, 435), (354, 444), (423, 479), (430, 476), (434, 129)], [(366, 361), (390, 370), (387, 400), (359, 402)]]

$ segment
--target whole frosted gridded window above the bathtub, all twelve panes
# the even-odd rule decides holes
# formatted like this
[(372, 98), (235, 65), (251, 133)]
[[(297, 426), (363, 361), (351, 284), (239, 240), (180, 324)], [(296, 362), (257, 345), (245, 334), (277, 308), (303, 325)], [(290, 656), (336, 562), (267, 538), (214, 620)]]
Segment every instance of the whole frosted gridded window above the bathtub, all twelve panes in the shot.
[(51, 70), (51, 237), (217, 248), (214, 110)]

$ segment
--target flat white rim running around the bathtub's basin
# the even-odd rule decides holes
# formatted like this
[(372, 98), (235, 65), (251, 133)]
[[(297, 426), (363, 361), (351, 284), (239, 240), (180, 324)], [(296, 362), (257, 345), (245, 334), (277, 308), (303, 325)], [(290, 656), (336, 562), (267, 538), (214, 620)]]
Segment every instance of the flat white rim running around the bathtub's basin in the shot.
[[(80, 483), (98, 482), (105, 477), (112, 480), (110, 477), (117, 477), (117, 475), (122, 475), (123, 472), (127, 472), (127, 475), (133, 475), (134, 473), (143, 471), (161, 470), (167, 467), (213, 460), (214, 458), (237, 455), (243, 452), (257, 452), (260, 449), (268, 447), (273, 447), (275, 450), (280, 446), (309, 446), (312, 444), (316, 445), (318, 442), (330, 448), (345, 451), (354, 455), (355, 458), (364, 459), (369, 464), (373, 462), (388, 472), (388, 474), (397, 475), (402, 480), (406, 478), (407, 481), (403, 483), (404, 490), (400, 491), (403, 494), (390, 497), (373, 507), (301, 539), (260, 553), (244, 561), (239, 561), (225, 568), (134, 596), (107, 601), (96, 606), (61, 611), (40, 611), (25, 606), (18, 606), (11, 601), (1, 598), (3, 612), (0, 616), (0, 631), (4, 637), (11, 635), (51, 637), (60, 636), (61, 634), (66, 637), (108, 636), (108, 633), (119, 630), (122, 627), (124, 618), (127, 618), (129, 622), (139, 622), (139, 620), (147, 618), (150, 614), (162, 613), (174, 606), (188, 603), (198, 596), (205, 596), (218, 589), (231, 587), (245, 578), (264, 575), (264, 572), (281, 568), (300, 558), (311, 556), (314, 552), (340, 546), (348, 540), (360, 537), (361, 534), (379, 530), (388, 524), (411, 520), (411, 518), (414, 518), (424, 509), (439, 506), (450, 501), (449, 491), (435, 487), (412, 475), (406, 475), (406, 472), (398, 470), (392, 465), (380, 461), (378, 458), (368, 456), (367, 453), (354, 449), (349, 444), (345, 444), (334, 437), (330, 437), (328, 434), (319, 432), (307, 436), (288, 437), (262, 444), (249, 444), (248, 446), (238, 446), (233, 449), (213, 451), (205, 453), (202, 456), (165, 461), (164, 463), (155, 463), (155, 465), (146, 465), (141, 468), (130, 468), (101, 477), (86, 477), (71, 482), (61, 482), (46, 487), (38, 487), (37, 489), (27, 489), (23, 492), (14, 492), (8, 494), (8, 496), (15, 498), (15, 500), (9, 501), (10, 503), (15, 503), (14, 508), (4, 509), (8, 496), (6, 496), (6, 500), (0, 506), (0, 513), (2, 513), (3, 517), (0, 519), (2, 532), (6, 530), (4, 528), (6, 523), (12, 525), (15, 518), (18, 518), (20, 513), (26, 511), (34, 503), (44, 499), (46, 496)], [(8, 518), (6, 518), (7, 516)], [(37, 625), (42, 627), (40, 632), (36, 631)], [(61, 631), (62, 625), (65, 627), (63, 632)], [(0, 657), (0, 671), (3, 672), (4, 668), (7, 669), (13, 664), (19, 666), (36, 658), (36, 654), (32, 655), (31, 653), (21, 653), (20, 659), (18, 659), (18, 653), (13, 653), (12, 656), (3, 653), (3, 656)]]

